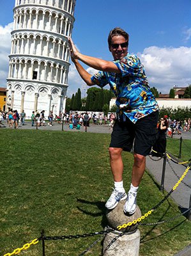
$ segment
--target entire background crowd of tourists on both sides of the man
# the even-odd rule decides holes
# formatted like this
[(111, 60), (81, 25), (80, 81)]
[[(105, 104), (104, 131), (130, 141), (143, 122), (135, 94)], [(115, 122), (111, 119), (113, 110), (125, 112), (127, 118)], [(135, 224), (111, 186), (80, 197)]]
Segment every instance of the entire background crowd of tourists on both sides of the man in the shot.
[[(86, 124), (84, 123), (84, 116), (86, 115)], [(88, 115), (88, 116), (87, 116)], [(13, 110), (8, 108), (8, 111), (0, 111), (0, 127), (5, 127), (4, 120), (8, 127), (18, 128), (19, 125), (25, 125), (26, 113), (24, 110), (19, 113), (17, 109)], [(61, 124), (63, 121), (64, 124), (68, 124), (70, 129), (77, 127), (77, 124), (80, 126), (89, 126), (89, 121), (92, 120), (93, 125), (106, 125), (109, 124), (110, 129), (114, 126), (116, 120), (116, 115), (110, 113), (108, 116), (103, 115), (102, 113), (96, 114), (95, 112), (72, 112), (72, 113), (59, 113), (59, 116), (53, 115), (53, 112), (50, 111), (48, 116), (47, 125), (54, 125), (53, 122)], [(182, 131), (188, 132), (191, 131), (191, 118), (185, 118), (185, 120), (171, 120), (170, 117), (164, 116), (165, 122), (167, 122), (167, 130), (165, 131), (167, 136), (172, 137), (173, 134), (181, 134)], [(45, 110), (43, 111), (33, 111), (31, 115), (31, 125), (32, 126), (45, 126), (46, 125)], [(37, 123), (37, 124), (36, 124)], [(158, 125), (160, 122), (158, 122)], [(79, 127), (79, 126), (78, 126)], [(72, 128), (72, 129), (73, 129)]]

